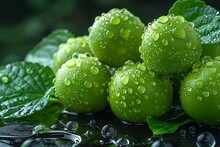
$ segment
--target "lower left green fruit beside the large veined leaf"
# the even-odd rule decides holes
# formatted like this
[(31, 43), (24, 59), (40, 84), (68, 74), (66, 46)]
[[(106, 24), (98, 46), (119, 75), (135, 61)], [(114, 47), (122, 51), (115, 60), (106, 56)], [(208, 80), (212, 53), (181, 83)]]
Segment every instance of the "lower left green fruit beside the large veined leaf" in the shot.
[(79, 55), (58, 70), (55, 95), (65, 108), (76, 113), (94, 113), (107, 105), (110, 73), (96, 57)]

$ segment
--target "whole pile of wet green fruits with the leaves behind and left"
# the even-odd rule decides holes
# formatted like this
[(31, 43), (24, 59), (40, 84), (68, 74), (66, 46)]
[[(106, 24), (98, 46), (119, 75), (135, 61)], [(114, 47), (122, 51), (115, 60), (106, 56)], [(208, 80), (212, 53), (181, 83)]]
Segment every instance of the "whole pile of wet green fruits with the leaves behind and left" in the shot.
[[(114, 8), (95, 18), (87, 36), (54, 32), (26, 58), (46, 67), (21, 62), (0, 69), (0, 116), (26, 118), (35, 111), (39, 116), (39, 110), (53, 104), (75, 113), (96, 113), (110, 106), (123, 121), (150, 123), (178, 103), (193, 120), (219, 125), (219, 18), (219, 12), (203, 1), (179, 0), (168, 15), (147, 26), (127, 9)], [(38, 78), (31, 76), (36, 71)]]

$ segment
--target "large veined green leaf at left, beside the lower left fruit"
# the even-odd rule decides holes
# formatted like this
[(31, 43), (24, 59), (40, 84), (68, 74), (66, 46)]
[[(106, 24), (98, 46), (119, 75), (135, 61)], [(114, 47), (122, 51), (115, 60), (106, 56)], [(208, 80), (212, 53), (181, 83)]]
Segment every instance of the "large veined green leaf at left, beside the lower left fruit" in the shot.
[[(42, 113), (49, 102), (57, 102), (53, 98), (54, 78), (49, 67), (37, 63), (16, 62), (1, 67), (0, 117), (7, 120)], [(40, 119), (38, 116), (45, 117), (37, 115), (35, 119)]]

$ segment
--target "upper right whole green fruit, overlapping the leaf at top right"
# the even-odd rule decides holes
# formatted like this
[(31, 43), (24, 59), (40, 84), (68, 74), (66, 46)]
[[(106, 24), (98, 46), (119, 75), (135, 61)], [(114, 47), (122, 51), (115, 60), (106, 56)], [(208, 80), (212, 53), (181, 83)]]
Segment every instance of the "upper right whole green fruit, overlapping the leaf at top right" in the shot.
[(161, 16), (148, 25), (139, 48), (145, 66), (161, 75), (189, 70), (201, 56), (198, 32), (182, 16)]

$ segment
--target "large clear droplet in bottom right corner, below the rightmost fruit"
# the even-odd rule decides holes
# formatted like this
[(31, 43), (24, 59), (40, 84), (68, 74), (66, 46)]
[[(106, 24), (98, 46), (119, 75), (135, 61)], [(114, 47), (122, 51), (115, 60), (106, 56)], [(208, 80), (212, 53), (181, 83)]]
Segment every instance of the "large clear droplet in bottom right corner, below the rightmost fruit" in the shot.
[(215, 144), (215, 137), (209, 132), (200, 134), (196, 139), (197, 147), (214, 147)]

